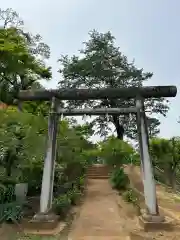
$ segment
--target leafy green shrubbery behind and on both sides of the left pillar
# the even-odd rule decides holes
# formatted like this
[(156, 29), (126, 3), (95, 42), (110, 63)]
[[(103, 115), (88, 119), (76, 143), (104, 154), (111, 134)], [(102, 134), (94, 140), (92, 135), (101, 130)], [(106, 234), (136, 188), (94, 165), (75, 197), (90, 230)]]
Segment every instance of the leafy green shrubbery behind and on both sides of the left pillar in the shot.
[[(0, 167), (3, 175), (0, 177), (0, 182), (5, 186), (9, 183), (15, 185), (26, 182), (28, 195), (39, 195), (46, 139), (47, 118), (42, 115), (17, 112), (16, 109), (1, 110)], [(66, 120), (59, 122), (57, 143), (54, 190), (58, 190), (67, 182), (75, 183), (80, 190), (83, 190), (83, 176), (87, 166), (84, 152), (90, 150), (91, 144), (77, 134), (76, 129), (70, 127)], [(13, 158), (9, 157), (7, 152), (12, 152)]]

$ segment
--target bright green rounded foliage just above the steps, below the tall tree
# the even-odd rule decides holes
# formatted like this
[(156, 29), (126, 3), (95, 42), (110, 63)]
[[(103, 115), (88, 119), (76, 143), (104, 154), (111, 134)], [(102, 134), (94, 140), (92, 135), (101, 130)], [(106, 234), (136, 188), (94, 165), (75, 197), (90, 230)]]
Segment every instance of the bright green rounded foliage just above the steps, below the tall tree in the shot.
[(110, 137), (100, 144), (100, 156), (110, 165), (122, 165), (131, 162), (133, 147), (115, 137)]

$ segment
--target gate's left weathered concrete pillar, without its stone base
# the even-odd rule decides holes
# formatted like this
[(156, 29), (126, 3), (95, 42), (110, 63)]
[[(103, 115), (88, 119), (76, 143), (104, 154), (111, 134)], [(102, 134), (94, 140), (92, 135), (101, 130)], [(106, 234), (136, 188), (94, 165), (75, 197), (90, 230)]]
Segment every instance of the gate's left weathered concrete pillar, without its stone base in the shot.
[(56, 135), (58, 126), (58, 116), (55, 112), (56, 99), (53, 98), (48, 121), (48, 140), (42, 178), (40, 213), (48, 213), (52, 208), (54, 167), (56, 159)]

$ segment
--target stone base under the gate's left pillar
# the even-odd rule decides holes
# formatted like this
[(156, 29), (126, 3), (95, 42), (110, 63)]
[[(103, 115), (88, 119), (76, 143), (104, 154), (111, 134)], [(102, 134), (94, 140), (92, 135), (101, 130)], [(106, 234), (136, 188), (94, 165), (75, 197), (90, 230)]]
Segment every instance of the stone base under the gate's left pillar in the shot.
[(59, 224), (59, 216), (54, 213), (38, 213), (30, 221), (24, 223), (24, 228), (32, 230), (55, 229)]

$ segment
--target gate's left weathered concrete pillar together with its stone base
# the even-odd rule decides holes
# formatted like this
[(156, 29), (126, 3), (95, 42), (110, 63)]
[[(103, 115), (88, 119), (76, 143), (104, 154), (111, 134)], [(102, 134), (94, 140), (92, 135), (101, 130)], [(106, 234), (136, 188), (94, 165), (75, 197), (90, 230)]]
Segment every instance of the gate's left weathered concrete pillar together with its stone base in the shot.
[(54, 170), (56, 160), (56, 135), (58, 126), (58, 115), (56, 99), (53, 97), (48, 120), (47, 150), (44, 160), (42, 177), (40, 210), (27, 224), (26, 228), (37, 230), (40, 233), (44, 229), (57, 227), (59, 217), (52, 212)]

